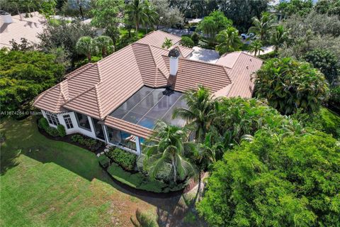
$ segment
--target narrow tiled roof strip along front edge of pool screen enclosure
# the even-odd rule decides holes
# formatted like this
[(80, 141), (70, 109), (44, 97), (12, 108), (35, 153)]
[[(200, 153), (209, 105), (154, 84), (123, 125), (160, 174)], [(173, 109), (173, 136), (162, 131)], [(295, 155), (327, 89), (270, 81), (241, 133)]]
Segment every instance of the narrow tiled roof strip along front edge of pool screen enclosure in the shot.
[(118, 130), (125, 131), (127, 133), (131, 133), (132, 135), (140, 136), (141, 138), (149, 138), (149, 136), (152, 135), (153, 133), (153, 131), (150, 130), (149, 128), (138, 126), (135, 125), (134, 123), (114, 118), (113, 116), (107, 116), (104, 121), (104, 124), (106, 126), (117, 128)]

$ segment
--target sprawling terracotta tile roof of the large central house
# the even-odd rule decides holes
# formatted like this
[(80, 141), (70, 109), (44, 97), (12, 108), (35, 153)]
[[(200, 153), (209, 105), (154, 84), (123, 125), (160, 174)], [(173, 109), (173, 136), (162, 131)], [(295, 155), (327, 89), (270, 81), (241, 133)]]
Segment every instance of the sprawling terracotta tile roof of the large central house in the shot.
[(250, 76), (261, 67), (261, 60), (235, 52), (222, 56), (217, 64), (211, 64), (182, 57), (190, 55), (191, 50), (177, 46), (175, 48), (181, 52), (179, 70), (176, 76), (170, 76), (169, 50), (159, 47), (165, 37), (171, 38), (173, 43), (180, 40), (176, 35), (162, 31), (149, 33), (103, 60), (67, 74), (63, 82), (40, 94), (34, 106), (54, 113), (63, 109), (77, 111), (105, 119), (106, 124), (117, 128), (119, 124), (123, 127), (120, 122), (123, 120), (113, 119), (108, 114), (143, 86), (171, 87), (177, 92), (186, 92), (203, 85), (215, 96), (251, 97), (249, 86), (254, 87), (254, 84)]

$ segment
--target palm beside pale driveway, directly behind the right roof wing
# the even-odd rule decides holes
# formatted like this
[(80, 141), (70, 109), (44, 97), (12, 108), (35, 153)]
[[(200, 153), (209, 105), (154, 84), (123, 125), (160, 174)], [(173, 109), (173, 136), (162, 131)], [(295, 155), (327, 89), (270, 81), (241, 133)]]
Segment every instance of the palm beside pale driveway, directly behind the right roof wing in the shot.
[(217, 42), (220, 43), (216, 46), (216, 50), (220, 53), (220, 55), (225, 52), (239, 50), (239, 47), (242, 45), (242, 42), (239, 39), (239, 31), (232, 26), (220, 31), (216, 38)]

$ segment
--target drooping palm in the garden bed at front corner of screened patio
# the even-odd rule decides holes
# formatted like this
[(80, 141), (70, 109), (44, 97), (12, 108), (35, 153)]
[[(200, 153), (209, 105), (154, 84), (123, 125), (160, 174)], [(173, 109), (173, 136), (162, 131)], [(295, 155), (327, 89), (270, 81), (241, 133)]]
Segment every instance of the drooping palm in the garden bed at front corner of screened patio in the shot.
[(196, 150), (196, 145), (187, 140), (190, 130), (187, 127), (168, 125), (157, 122), (154, 135), (147, 142), (146, 163), (150, 163), (149, 175), (156, 177), (165, 163), (170, 163), (174, 170), (174, 182), (177, 176), (184, 179), (189, 174), (196, 174), (196, 168), (185, 155)]

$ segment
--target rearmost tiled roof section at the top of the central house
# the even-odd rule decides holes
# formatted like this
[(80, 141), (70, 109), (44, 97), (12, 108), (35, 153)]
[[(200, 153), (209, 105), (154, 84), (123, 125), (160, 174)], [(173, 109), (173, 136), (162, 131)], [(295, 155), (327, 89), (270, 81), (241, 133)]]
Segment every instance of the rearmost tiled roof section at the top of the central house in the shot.
[(172, 45), (176, 45), (176, 43), (179, 43), (179, 41), (181, 41), (181, 37), (177, 35), (172, 35), (170, 33), (157, 30), (148, 33), (147, 35), (145, 35), (144, 38), (137, 40), (136, 43), (144, 43), (148, 45), (153, 45), (157, 48), (162, 48), (165, 38), (171, 39)]

